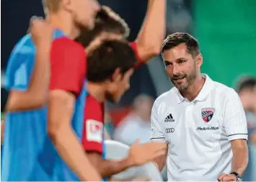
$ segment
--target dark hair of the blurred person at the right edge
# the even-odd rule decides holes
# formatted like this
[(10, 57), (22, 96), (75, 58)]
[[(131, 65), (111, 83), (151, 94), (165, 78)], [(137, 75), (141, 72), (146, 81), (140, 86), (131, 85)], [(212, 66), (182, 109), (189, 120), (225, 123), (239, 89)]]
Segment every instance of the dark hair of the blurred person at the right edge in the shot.
[(240, 93), (244, 89), (253, 89), (256, 87), (256, 78), (252, 76), (244, 76), (237, 82), (237, 93)]

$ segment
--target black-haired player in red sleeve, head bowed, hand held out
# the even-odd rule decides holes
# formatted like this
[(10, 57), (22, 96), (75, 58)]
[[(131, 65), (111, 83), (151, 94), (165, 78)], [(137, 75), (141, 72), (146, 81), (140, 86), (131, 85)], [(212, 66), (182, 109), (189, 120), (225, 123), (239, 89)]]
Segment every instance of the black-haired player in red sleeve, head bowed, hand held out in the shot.
[(131, 146), (128, 157), (123, 160), (102, 158), (104, 153), (104, 102), (117, 102), (128, 90), (130, 77), (133, 74), (133, 65), (137, 60), (128, 42), (107, 41), (89, 53), (87, 61), (89, 96), (87, 96), (84, 108), (82, 143), (89, 160), (102, 177), (110, 178), (131, 166), (143, 165), (157, 156), (163, 155), (166, 145), (162, 143), (149, 142), (139, 145), (136, 142)]

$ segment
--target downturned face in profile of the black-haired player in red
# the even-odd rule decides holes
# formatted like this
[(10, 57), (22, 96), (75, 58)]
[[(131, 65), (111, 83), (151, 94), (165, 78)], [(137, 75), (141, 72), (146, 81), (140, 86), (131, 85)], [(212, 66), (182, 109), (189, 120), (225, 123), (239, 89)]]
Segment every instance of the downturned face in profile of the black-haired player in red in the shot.
[(123, 76), (121, 73), (115, 75), (115, 79), (110, 81), (107, 86), (107, 101), (118, 103), (125, 91), (130, 88), (130, 78), (133, 75), (133, 69), (126, 71)]

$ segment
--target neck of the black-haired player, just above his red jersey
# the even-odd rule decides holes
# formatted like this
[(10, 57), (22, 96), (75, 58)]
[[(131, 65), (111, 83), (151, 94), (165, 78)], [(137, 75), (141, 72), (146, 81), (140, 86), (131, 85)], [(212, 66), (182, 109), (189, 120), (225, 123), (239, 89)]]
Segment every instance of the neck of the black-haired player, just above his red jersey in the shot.
[(105, 89), (101, 83), (88, 82), (87, 91), (97, 101), (100, 101), (100, 102), (105, 101)]

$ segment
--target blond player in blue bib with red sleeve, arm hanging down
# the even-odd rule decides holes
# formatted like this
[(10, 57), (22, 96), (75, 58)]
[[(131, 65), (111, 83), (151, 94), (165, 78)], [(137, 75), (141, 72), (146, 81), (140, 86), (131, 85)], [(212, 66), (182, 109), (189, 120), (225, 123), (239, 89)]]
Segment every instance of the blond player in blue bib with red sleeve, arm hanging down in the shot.
[[(3, 181), (101, 181), (77, 138), (81, 137), (82, 121), (76, 116), (83, 112), (81, 88), (87, 63), (84, 47), (73, 41), (81, 27), (94, 27), (99, 6), (94, 0), (45, 0), (44, 5), (47, 20), (58, 28), (50, 51), (48, 114), (46, 107), (6, 114), (1, 177)], [(11, 91), (27, 90), (35, 67), (34, 55), (35, 45), (26, 35), (9, 59), (7, 83)], [(77, 107), (74, 112), (75, 103), (81, 104), (81, 111)]]

